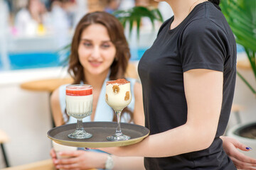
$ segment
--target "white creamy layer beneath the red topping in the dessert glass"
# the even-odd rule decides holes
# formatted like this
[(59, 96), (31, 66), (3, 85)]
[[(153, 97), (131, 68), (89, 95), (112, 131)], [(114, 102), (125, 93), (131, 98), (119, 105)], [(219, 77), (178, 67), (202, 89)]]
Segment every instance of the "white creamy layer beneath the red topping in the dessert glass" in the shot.
[[(87, 96), (68, 96), (66, 95), (66, 108), (68, 115), (92, 114), (92, 94)], [(85, 116), (83, 116), (85, 117)]]

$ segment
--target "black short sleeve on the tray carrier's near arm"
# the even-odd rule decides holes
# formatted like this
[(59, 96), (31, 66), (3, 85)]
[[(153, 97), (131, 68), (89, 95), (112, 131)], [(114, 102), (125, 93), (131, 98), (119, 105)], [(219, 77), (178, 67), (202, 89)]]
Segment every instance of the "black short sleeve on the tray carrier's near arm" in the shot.
[(225, 34), (212, 21), (204, 18), (192, 21), (181, 38), (183, 72), (190, 69), (213, 69), (223, 72), (225, 61)]

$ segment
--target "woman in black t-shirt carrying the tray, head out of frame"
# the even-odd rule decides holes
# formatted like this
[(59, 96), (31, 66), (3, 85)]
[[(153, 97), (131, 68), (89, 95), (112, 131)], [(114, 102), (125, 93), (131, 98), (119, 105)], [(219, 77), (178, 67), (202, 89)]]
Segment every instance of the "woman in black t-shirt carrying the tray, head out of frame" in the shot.
[[(233, 103), (236, 43), (219, 1), (169, 0), (163, 23), (139, 62), (149, 137), (103, 149), (145, 157), (146, 169), (236, 169), (223, 150)], [(213, 2), (213, 3), (212, 3)]]

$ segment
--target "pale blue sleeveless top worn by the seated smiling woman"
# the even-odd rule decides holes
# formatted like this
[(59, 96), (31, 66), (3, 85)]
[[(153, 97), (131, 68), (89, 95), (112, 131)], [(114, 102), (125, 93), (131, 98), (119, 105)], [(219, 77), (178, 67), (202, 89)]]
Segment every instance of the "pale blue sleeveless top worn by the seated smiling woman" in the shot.
[[(105, 101), (105, 91), (106, 91), (106, 82), (109, 81), (109, 78), (107, 77), (107, 79), (105, 79), (103, 85), (102, 85), (102, 90), (100, 91), (100, 96), (99, 99), (97, 101), (97, 108), (95, 111), (95, 119), (94, 121), (112, 121), (113, 120), (113, 116), (114, 112), (113, 109), (107, 105), (106, 101)], [(127, 81), (130, 81), (131, 84), (131, 94), (132, 94), (132, 101), (131, 103), (129, 103), (129, 105), (127, 106), (129, 108), (129, 110), (131, 110), (132, 112), (134, 111), (134, 84), (137, 81), (136, 79), (132, 79), (132, 78), (127, 78)], [(82, 83), (81, 83), (82, 84)], [(66, 124), (68, 123), (77, 123), (77, 119), (73, 118), (72, 116), (70, 116), (69, 120), (68, 120), (68, 116), (65, 113), (65, 86), (68, 86), (68, 84), (62, 85), (59, 87), (59, 98), (60, 98), (60, 109), (61, 112), (63, 113), (63, 120), (65, 121)], [(68, 122), (67, 122), (68, 120)], [(127, 123), (130, 120), (130, 115), (128, 113), (124, 113), (124, 115), (122, 115), (121, 118), (121, 122), (123, 123)], [(87, 116), (86, 118), (82, 119), (83, 122), (90, 122), (91, 118), (90, 116)]]

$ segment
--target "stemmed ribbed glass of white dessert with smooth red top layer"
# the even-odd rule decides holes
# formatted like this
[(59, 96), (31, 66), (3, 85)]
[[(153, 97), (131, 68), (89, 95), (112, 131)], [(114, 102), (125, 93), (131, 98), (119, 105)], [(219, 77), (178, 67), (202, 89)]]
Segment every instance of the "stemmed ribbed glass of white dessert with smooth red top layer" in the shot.
[(66, 86), (66, 108), (68, 115), (78, 120), (75, 132), (68, 135), (73, 139), (86, 139), (92, 134), (85, 132), (82, 118), (92, 114), (92, 86), (87, 84), (73, 84)]

